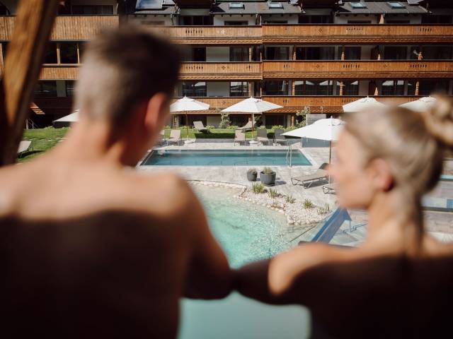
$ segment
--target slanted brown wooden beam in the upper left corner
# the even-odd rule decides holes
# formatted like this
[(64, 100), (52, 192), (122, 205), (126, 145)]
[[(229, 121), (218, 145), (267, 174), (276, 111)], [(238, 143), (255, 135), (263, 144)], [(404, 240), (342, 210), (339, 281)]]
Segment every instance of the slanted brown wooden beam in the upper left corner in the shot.
[(58, 0), (21, 0), (0, 88), (0, 166), (15, 162)]

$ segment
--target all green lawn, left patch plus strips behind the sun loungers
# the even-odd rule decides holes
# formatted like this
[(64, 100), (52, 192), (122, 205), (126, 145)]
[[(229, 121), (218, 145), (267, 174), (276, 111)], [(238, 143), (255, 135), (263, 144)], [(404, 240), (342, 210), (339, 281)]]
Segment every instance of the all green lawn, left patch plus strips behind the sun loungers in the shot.
[[(180, 127), (181, 138), (187, 138), (187, 129), (185, 127)], [(59, 141), (64, 138), (69, 128), (54, 129), (48, 127), (47, 129), (26, 129), (23, 133), (24, 140), (32, 141), (31, 146), (33, 150), (30, 152), (24, 153), (19, 159), (18, 162), (24, 162), (38, 155), (44, 153), (46, 150), (57, 145)], [(165, 129), (165, 136), (168, 138), (170, 136), (171, 129)], [(268, 138), (274, 137), (274, 131), (268, 129)], [(256, 130), (253, 131), (253, 137), (256, 136)], [(189, 128), (189, 138), (229, 138), (234, 139), (234, 129), (211, 129), (210, 133), (198, 133), (192, 128)], [(246, 138), (252, 138), (252, 132), (248, 131), (246, 133)]]

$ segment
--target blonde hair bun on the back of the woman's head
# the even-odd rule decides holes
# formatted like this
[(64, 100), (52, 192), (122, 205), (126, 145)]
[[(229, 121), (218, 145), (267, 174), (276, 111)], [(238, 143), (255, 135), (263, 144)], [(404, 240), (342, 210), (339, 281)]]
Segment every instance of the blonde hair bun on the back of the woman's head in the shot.
[(453, 148), (453, 102), (447, 97), (437, 97), (435, 105), (423, 112), (428, 132), (441, 145)]

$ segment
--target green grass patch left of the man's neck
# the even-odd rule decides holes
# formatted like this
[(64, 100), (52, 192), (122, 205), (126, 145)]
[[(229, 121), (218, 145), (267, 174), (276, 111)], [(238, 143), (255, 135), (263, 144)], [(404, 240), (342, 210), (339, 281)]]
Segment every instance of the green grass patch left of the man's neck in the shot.
[(57, 145), (58, 141), (62, 140), (66, 135), (68, 128), (63, 129), (25, 129), (23, 132), (23, 140), (30, 140), (33, 150), (25, 152), (18, 158), (18, 162), (25, 162), (38, 157), (45, 151)]

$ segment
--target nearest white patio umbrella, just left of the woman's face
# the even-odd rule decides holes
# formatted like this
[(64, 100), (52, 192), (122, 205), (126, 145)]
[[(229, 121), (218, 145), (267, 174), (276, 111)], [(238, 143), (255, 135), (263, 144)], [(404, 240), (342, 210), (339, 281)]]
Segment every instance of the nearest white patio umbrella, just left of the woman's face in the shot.
[(311, 138), (328, 141), (328, 163), (332, 158), (332, 141), (338, 141), (341, 131), (343, 131), (345, 121), (340, 119), (319, 119), (314, 124), (294, 129), (283, 133), (284, 136), (295, 136), (297, 138)]

